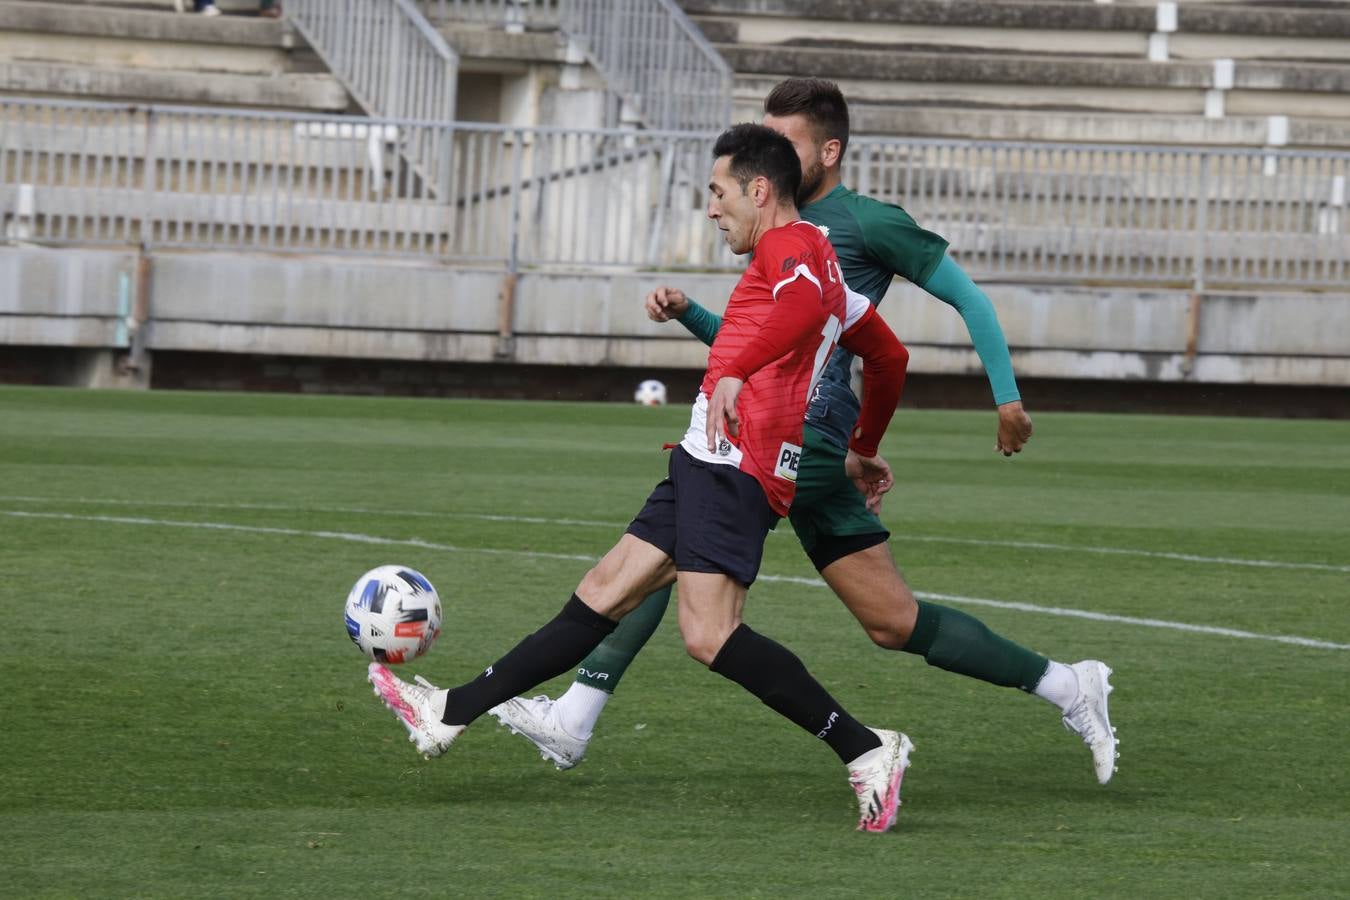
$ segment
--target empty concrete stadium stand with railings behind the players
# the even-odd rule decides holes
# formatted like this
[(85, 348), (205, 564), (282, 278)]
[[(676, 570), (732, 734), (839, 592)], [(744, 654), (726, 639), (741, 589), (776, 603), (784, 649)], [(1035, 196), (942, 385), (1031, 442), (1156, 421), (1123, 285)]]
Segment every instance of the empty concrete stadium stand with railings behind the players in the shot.
[[(682, 5), (3, 3), (0, 344), (89, 351), (80, 383), (151, 354), (697, 367), (632, 298), (725, 296), (707, 135), (817, 74), (848, 184), (950, 239), (1023, 375), (1350, 385), (1343, 4)], [(979, 372), (892, 293), (915, 372)]]

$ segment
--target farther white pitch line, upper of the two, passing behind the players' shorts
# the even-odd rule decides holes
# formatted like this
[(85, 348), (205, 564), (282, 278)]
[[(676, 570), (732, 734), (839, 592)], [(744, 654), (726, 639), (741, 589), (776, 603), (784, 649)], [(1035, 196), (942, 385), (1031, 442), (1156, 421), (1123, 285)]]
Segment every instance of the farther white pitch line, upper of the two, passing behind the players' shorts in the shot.
[[(356, 515), (404, 515), (409, 518), (467, 518), (481, 522), (521, 522), (526, 525), (568, 525), (587, 528), (628, 528), (628, 522), (606, 522), (583, 518), (547, 518), (539, 515), (491, 515), (487, 513), (427, 513), (423, 510), (379, 510), (363, 506), (290, 506), (286, 503), (193, 503), (189, 501), (124, 501), (90, 497), (18, 497), (0, 495), (0, 501), (23, 503), (100, 503), (116, 506), (162, 506), (173, 509), (224, 509), (224, 510), (273, 510), (281, 513), (352, 513)], [(770, 532), (771, 536), (786, 532)], [(1027, 551), (1058, 551), (1064, 553), (1100, 553), (1107, 556), (1138, 556), (1145, 559), (1174, 560), (1179, 563), (1202, 563), (1210, 565), (1247, 565), (1253, 568), (1304, 569), (1314, 572), (1346, 572), (1350, 565), (1328, 563), (1288, 563), (1284, 560), (1249, 560), (1230, 556), (1199, 556), (1195, 553), (1170, 553), (1166, 551), (1137, 551), (1126, 546), (1091, 546), (1079, 544), (1046, 544), (1041, 541), (999, 541), (975, 537), (942, 537), (936, 534), (891, 534), (892, 541), (915, 541), (922, 544), (964, 544), (968, 546), (1011, 546)]]

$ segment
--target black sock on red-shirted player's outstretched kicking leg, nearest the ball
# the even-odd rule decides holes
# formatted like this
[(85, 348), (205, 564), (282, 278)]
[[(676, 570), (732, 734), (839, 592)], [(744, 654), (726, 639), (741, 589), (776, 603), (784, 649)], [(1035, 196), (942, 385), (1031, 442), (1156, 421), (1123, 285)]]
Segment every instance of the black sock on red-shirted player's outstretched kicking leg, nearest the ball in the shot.
[(617, 623), (572, 594), (563, 611), (446, 698), (446, 725), (468, 725), (487, 710), (540, 681), (567, 672), (586, 658)]

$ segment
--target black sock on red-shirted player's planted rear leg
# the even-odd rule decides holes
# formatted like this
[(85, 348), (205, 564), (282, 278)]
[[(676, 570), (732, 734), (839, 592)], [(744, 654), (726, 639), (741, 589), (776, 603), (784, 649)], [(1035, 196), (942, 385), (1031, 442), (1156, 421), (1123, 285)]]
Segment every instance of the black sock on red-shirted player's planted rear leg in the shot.
[(744, 622), (726, 638), (709, 668), (829, 743), (844, 762), (882, 746), (882, 739), (845, 712), (791, 650)]

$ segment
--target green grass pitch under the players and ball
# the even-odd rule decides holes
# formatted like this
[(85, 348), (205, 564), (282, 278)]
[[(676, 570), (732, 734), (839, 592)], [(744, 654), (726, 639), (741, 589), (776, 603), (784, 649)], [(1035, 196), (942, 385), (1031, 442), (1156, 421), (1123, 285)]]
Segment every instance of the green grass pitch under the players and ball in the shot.
[(674, 618), (579, 768), (491, 719), (416, 756), (343, 630), (356, 576), (425, 572), (446, 630), (402, 668), (467, 680), (563, 604), (686, 416), (0, 389), (0, 895), (1350, 891), (1346, 422), (1040, 414), (1006, 460), (992, 413), (898, 416), (906, 576), (1115, 668), (1106, 788), (1048, 704), (873, 648), (786, 526), (747, 621), (914, 738), (894, 833), (853, 833), (833, 754)]

